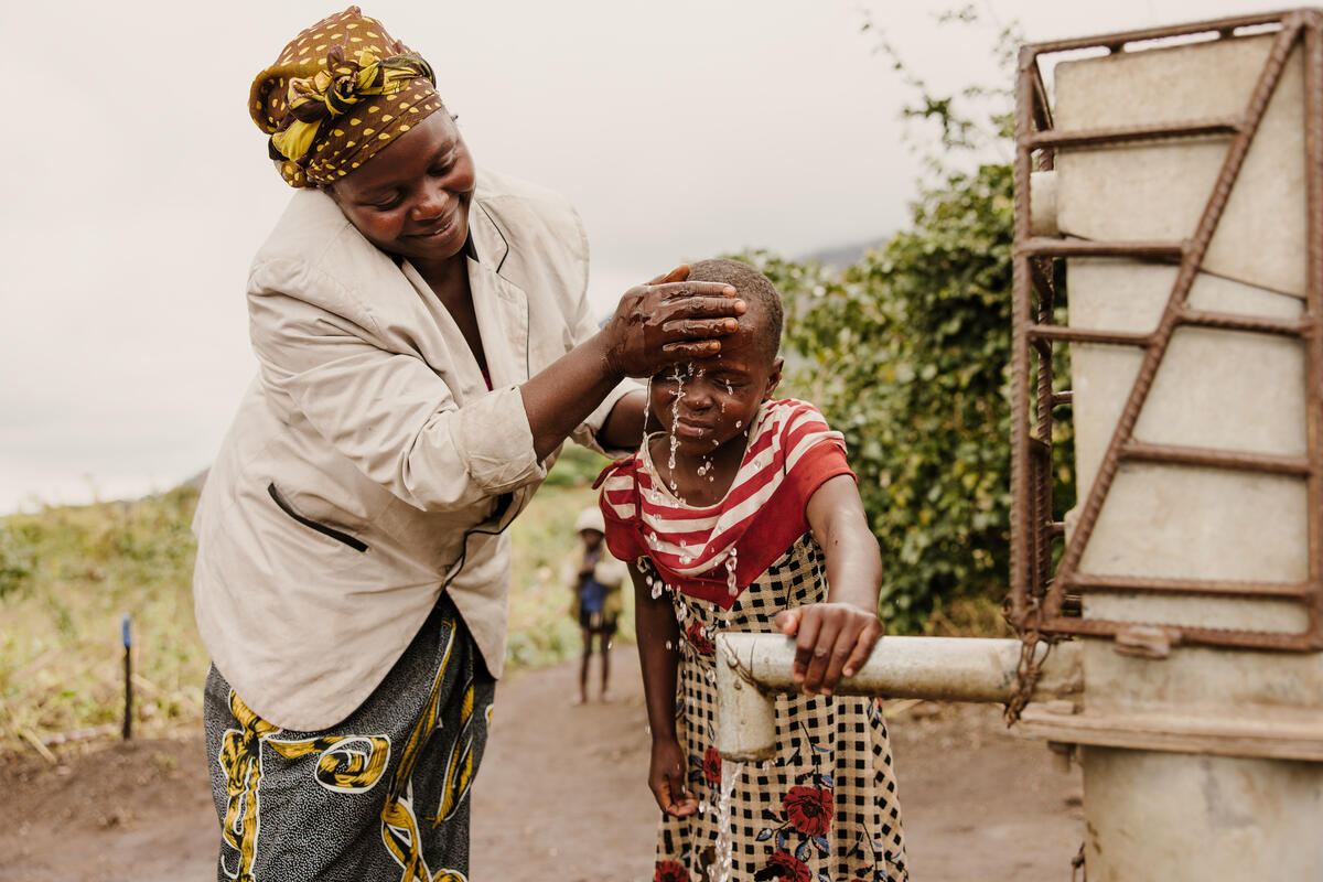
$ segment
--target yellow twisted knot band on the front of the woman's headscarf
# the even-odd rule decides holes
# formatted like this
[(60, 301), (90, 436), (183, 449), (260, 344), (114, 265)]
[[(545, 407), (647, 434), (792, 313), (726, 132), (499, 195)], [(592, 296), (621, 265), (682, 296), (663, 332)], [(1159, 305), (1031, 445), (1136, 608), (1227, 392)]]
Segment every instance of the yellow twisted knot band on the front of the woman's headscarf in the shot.
[(271, 135), (271, 145), (282, 157), (299, 163), (307, 157), (323, 122), (343, 116), (366, 97), (402, 91), (418, 78), (437, 83), (431, 65), (417, 53), (378, 58), (370, 49), (361, 49), (348, 60), (344, 46), (331, 46), (325, 70), (290, 81), (290, 118), (282, 131)]

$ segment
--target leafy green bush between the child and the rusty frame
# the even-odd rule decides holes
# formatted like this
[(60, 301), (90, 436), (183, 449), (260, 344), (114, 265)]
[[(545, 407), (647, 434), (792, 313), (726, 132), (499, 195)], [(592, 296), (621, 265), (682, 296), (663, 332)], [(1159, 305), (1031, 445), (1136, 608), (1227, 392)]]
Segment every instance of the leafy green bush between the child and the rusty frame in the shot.
[(744, 255), (786, 300), (783, 390), (845, 435), (894, 631), (919, 631), (939, 602), (1005, 592), (1011, 243), (1011, 169), (983, 165), (947, 172), (912, 229), (840, 274)]

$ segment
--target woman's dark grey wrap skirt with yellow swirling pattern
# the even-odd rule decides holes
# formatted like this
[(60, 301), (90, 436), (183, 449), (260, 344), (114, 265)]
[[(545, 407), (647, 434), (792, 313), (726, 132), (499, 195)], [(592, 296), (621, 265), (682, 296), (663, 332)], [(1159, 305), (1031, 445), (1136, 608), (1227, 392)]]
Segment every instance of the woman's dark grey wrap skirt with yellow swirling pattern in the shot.
[(493, 690), (446, 596), (381, 685), (324, 731), (266, 722), (213, 666), (217, 879), (467, 882), (468, 791)]

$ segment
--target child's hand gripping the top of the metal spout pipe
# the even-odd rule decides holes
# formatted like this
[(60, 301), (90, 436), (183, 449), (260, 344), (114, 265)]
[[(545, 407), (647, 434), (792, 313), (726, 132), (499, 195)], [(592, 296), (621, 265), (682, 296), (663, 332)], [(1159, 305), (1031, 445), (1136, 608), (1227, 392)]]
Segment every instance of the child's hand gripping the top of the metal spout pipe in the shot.
[(830, 696), (843, 676), (853, 677), (882, 636), (877, 614), (852, 603), (811, 603), (779, 612), (774, 621), (795, 637), (791, 673), (808, 696)]

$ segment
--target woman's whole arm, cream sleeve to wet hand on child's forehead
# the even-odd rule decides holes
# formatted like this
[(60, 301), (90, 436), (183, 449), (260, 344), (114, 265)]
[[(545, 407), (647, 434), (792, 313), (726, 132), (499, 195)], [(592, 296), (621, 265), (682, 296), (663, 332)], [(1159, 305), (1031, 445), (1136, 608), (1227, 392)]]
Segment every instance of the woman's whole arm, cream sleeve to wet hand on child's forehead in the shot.
[[(374, 329), (316, 305), (333, 301), (337, 288), (306, 275), (298, 282), (315, 298), (284, 294), (284, 262), (259, 266), (250, 282), (253, 346), (273, 407), (296, 413), (364, 475), (427, 512), (490, 504), (537, 480), (548, 454), (622, 377), (720, 346), (721, 323), (744, 307), (717, 283), (639, 286), (606, 328), (523, 386), (459, 407), (422, 358), (384, 349)], [(706, 317), (713, 312), (728, 317)], [(611, 431), (626, 447), (638, 443), (630, 424), (639, 417), (628, 414)]]

